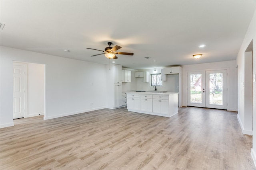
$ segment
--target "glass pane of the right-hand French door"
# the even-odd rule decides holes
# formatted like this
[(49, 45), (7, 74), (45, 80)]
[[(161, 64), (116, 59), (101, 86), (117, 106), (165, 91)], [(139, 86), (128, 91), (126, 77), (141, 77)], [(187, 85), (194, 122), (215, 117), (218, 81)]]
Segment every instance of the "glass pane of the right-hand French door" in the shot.
[(223, 74), (213, 73), (209, 76), (210, 104), (223, 105)]

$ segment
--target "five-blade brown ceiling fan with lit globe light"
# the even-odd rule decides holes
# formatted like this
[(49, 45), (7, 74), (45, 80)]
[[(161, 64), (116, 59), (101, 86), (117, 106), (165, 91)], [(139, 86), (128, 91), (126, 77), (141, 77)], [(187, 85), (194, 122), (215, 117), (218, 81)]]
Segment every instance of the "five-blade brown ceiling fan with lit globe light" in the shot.
[[(107, 57), (108, 59), (118, 59), (116, 57), (116, 54), (122, 54), (122, 55), (133, 55), (133, 53), (124, 53), (124, 52), (116, 52), (117, 50), (119, 50), (120, 46), (116, 45), (114, 47), (110, 47), (112, 45), (112, 42), (108, 42), (108, 45), (109, 47), (106, 47), (105, 48), (105, 51), (102, 51), (102, 50), (97, 50), (97, 49), (91, 49), (91, 48), (87, 48), (87, 49), (91, 49), (91, 50), (97, 50), (97, 51), (102, 51), (104, 53), (101, 53), (101, 54), (96, 54), (96, 55), (102, 55), (104, 54), (105, 57)], [(96, 55), (92, 55), (91, 57), (93, 56), (96, 56)]]

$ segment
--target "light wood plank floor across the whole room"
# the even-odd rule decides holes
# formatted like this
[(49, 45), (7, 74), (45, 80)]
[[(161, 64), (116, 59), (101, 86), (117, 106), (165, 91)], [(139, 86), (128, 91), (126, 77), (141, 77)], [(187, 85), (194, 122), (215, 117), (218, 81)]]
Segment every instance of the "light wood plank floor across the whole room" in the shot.
[(237, 112), (182, 107), (171, 118), (101, 109), (0, 129), (1, 170), (255, 170)]

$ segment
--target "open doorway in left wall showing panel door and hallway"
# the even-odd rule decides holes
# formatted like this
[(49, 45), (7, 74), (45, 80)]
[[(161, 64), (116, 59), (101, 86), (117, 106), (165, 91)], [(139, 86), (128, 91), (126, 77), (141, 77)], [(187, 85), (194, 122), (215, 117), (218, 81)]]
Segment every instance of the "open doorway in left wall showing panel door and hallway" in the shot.
[(13, 119), (45, 113), (45, 65), (13, 61)]

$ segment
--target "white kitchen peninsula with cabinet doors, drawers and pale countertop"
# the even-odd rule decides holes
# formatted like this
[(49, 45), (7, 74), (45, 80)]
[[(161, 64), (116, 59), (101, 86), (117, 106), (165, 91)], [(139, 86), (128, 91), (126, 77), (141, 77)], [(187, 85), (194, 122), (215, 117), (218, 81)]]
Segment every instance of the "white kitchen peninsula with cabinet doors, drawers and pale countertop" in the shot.
[(179, 93), (128, 92), (127, 109), (137, 113), (171, 117), (178, 113)]

